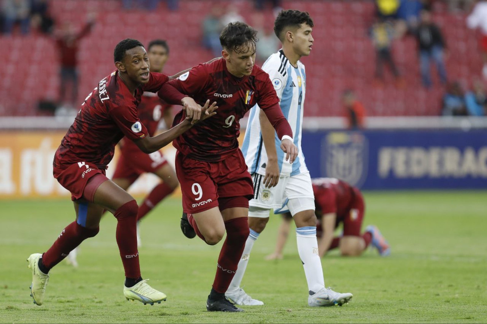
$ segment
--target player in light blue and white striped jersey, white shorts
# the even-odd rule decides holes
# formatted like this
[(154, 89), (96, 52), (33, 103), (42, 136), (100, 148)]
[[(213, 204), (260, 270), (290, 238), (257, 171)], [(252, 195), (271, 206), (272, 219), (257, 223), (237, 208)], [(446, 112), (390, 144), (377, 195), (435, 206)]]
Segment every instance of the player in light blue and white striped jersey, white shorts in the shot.
[[(281, 101), (282, 112), (293, 129), (294, 144), (299, 149), (306, 92), (306, 74), (300, 58), (311, 53), (313, 25), (307, 12), (281, 11), (274, 22), (274, 32), (281, 40), (282, 49), (272, 54), (262, 66), (269, 73)], [(298, 252), (308, 284), (308, 305), (341, 306), (348, 303), (353, 297), (351, 293), (338, 293), (325, 288), (318, 256), (313, 188), (302, 150), (293, 164), (286, 162), (281, 152), (277, 153), (280, 138), (276, 137), (276, 132), (262, 113), (262, 106), (258, 104), (251, 110), (242, 146), (245, 162), (254, 180), (254, 197), (249, 203), (250, 235), (237, 273), (225, 295), (238, 305), (263, 305), (245, 293), (240, 284), (254, 242), (269, 220), (270, 209), (281, 207), (287, 199), (297, 227)]]

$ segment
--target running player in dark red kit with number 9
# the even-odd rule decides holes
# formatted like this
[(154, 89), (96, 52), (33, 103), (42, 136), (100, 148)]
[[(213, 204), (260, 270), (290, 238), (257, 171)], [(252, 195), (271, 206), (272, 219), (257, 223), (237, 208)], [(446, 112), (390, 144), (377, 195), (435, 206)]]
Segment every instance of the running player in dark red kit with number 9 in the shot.
[[(183, 192), (183, 233), (190, 238), (197, 234), (209, 245), (217, 244), (225, 230), (227, 234), (206, 302), (208, 311), (242, 311), (225, 297), (249, 235), (248, 200), (254, 194), (237, 141), (240, 119), (258, 103), (276, 129), (287, 159), (293, 162), (298, 153), (269, 75), (254, 65), (256, 34), (244, 23), (229, 23), (220, 35), (222, 58), (200, 64), (168, 83), (198, 103), (213, 97), (219, 107), (215, 117), (173, 142)], [(174, 123), (185, 118), (181, 111)]]

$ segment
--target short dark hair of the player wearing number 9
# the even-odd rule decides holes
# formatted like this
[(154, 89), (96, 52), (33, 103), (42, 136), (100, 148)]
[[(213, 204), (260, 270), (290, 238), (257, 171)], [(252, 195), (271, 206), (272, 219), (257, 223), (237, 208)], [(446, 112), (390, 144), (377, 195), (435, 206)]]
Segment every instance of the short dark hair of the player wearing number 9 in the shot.
[(220, 44), (227, 51), (243, 53), (249, 42), (255, 51), (257, 31), (244, 22), (230, 22), (220, 34)]

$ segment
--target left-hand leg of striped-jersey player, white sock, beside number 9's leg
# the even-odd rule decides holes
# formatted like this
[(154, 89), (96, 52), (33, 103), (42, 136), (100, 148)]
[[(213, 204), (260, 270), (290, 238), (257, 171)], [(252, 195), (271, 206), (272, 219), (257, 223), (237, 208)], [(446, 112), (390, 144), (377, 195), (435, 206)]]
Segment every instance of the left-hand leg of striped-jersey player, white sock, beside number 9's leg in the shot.
[[(259, 217), (251, 217), (252, 215)], [(250, 259), (250, 252), (254, 246), (255, 241), (259, 238), (259, 235), (265, 229), (267, 222), (269, 221), (269, 210), (250, 207), (248, 224), (250, 234), (245, 241), (244, 252), (238, 264), (237, 272), (230, 283), (230, 286), (225, 292), (225, 296), (231, 299), (237, 305), (245, 306), (261, 306), (264, 303), (260, 300), (250, 297), (244, 289), (240, 288), (242, 279), (244, 278), (245, 270), (247, 269), (248, 261)]]

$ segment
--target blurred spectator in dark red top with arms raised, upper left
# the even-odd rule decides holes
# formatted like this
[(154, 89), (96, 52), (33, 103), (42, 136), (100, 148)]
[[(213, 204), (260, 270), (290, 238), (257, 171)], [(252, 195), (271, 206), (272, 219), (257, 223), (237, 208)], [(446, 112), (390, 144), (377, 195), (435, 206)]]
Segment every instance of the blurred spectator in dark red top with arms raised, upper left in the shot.
[[(89, 14), (86, 25), (76, 33), (73, 24), (65, 21), (59, 35), (56, 36), (56, 45), (60, 55), (60, 87), (59, 104), (74, 107), (78, 96), (78, 46), (79, 41), (90, 34), (95, 22), (95, 15)], [(71, 98), (65, 101), (66, 85), (71, 83)]]

